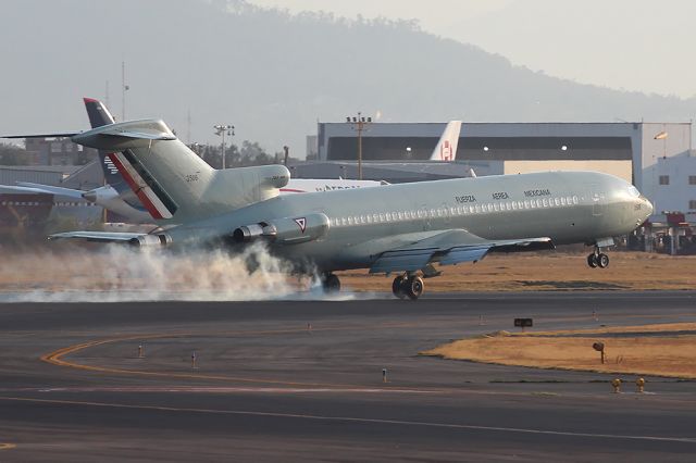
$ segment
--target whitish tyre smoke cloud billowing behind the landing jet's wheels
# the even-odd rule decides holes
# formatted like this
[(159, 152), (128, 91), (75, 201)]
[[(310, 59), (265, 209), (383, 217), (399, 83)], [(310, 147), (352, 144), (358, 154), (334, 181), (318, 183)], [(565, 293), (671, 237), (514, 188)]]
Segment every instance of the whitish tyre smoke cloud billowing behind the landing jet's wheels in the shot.
[(316, 276), (290, 276), (290, 266), (262, 245), (234, 255), (221, 250), (177, 253), (123, 246), (49, 247), (4, 254), (0, 301), (7, 302), (325, 298), (321, 287), (316, 289)]

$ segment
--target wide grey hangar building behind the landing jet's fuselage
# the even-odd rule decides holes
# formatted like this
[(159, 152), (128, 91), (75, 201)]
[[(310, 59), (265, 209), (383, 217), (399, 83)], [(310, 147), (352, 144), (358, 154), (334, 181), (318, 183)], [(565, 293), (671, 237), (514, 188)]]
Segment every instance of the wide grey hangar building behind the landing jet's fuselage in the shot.
[[(446, 123), (366, 123), (363, 178), (413, 182), (556, 170), (606, 172), (632, 182), (656, 213), (696, 213), (692, 123), (463, 123), (457, 162), (426, 161)], [(311, 148), (308, 147), (308, 151)], [(356, 178), (353, 123), (319, 123), (318, 162), (293, 166), (304, 178)], [(684, 185), (682, 185), (684, 184)]]

